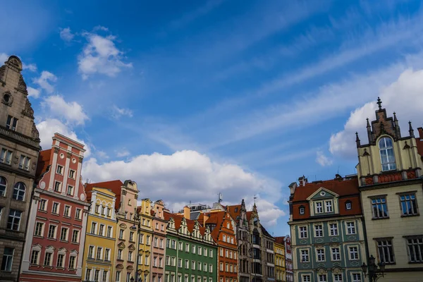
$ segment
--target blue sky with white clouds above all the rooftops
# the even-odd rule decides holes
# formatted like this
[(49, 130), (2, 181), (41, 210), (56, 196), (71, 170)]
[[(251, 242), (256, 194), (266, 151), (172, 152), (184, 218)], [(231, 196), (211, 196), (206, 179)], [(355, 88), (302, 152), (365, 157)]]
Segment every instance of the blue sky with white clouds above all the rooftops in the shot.
[[(247, 208), (289, 233), (288, 185), (355, 173), (381, 97), (423, 125), (421, 1), (6, 1), (43, 149), (85, 144), (82, 177), (139, 200)], [(256, 200), (254, 198), (257, 197)]]

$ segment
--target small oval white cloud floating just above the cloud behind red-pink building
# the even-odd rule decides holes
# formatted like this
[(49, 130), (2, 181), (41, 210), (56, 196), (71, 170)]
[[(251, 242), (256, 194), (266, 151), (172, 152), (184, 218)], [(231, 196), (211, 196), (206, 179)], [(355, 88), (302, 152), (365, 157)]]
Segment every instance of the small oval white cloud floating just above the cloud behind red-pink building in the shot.
[(59, 95), (51, 95), (44, 98), (42, 106), (47, 108), (50, 114), (64, 118), (67, 123), (83, 125), (88, 119), (87, 114), (85, 114), (80, 104), (77, 102), (66, 102), (65, 99)]

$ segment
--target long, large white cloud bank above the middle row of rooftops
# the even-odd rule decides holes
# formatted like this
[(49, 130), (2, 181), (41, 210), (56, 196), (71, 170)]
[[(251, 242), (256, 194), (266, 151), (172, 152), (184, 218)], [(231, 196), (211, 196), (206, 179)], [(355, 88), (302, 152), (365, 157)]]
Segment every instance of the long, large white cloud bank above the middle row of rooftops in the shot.
[(282, 197), (280, 183), (234, 164), (212, 161), (196, 151), (139, 155), (129, 161), (104, 164), (90, 159), (85, 161), (83, 173), (93, 182), (116, 178), (135, 180), (141, 197), (163, 199), (175, 210), (189, 201), (211, 204), (221, 192), (228, 204), (239, 204), (243, 198), (259, 195), (261, 204), (257, 207), (266, 225), (276, 223), (285, 214), (275, 205)]

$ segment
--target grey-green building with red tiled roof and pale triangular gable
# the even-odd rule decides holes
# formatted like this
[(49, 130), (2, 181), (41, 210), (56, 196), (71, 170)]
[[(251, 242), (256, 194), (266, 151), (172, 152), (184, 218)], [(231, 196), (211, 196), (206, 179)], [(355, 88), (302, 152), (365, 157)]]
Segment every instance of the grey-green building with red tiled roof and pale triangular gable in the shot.
[(294, 281), (364, 281), (365, 236), (357, 176), (290, 185)]

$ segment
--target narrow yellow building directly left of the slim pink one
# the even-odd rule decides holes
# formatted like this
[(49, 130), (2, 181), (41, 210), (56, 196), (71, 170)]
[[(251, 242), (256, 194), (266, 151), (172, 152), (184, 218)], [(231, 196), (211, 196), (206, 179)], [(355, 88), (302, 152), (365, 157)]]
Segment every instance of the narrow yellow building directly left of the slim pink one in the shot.
[(138, 277), (142, 279), (142, 281), (150, 281), (149, 274), (153, 238), (152, 201), (149, 199), (142, 199), (141, 205), (137, 207), (137, 214), (140, 219), (137, 274)]

